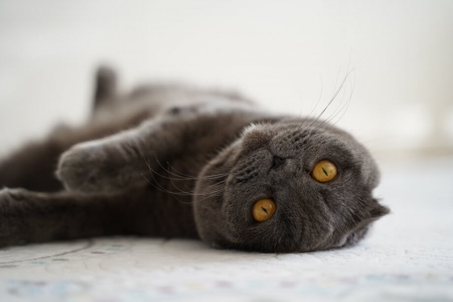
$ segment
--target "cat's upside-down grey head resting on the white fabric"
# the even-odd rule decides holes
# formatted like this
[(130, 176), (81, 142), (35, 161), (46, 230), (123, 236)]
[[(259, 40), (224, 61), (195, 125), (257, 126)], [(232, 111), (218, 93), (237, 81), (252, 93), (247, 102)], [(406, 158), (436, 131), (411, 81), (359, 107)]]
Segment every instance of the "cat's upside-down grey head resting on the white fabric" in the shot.
[[(209, 162), (194, 196), (202, 239), (263, 252), (313, 251), (355, 243), (388, 213), (372, 196), (379, 171), (366, 149), (337, 128), (310, 123), (251, 125)], [(328, 181), (313, 173), (322, 160), (336, 168)], [(226, 178), (210, 177), (225, 171)], [(275, 212), (257, 221), (253, 209), (262, 199), (274, 201)]]

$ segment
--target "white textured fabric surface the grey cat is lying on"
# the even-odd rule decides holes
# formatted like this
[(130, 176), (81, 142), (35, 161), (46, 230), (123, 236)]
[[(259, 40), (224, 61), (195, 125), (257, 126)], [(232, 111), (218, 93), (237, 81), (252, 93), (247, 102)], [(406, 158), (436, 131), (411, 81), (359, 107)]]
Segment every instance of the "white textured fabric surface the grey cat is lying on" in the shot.
[(0, 249), (0, 301), (453, 301), (453, 159), (382, 165), (392, 213), (355, 247), (217, 250), (94, 238)]

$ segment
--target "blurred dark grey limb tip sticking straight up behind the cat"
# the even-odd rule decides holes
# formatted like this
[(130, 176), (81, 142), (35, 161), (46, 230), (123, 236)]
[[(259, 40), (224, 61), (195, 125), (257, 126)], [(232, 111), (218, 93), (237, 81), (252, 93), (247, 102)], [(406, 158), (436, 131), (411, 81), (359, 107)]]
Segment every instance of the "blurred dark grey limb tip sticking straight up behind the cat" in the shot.
[(95, 110), (106, 101), (114, 99), (117, 89), (116, 72), (111, 67), (100, 66), (96, 72), (96, 84), (94, 95)]

